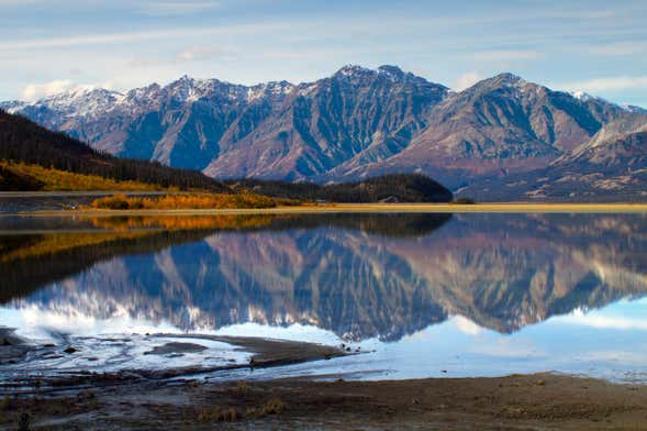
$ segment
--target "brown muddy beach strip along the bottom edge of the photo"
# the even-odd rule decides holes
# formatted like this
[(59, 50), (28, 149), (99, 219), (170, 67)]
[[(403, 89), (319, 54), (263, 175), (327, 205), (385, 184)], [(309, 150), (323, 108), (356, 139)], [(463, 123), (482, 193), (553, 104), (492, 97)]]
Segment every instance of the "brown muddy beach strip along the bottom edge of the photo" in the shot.
[(642, 430), (647, 387), (537, 374), (402, 382), (141, 383), (5, 398), (47, 430)]

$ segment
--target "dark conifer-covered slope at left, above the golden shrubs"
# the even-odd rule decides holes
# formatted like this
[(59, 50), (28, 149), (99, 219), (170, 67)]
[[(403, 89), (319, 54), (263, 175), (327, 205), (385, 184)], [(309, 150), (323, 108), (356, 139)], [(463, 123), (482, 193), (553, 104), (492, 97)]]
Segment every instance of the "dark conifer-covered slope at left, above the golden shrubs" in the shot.
[[(156, 162), (118, 158), (99, 153), (63, 133), (52, 132), (20, 115), (0, 110), (0, 159), (53, 167), (115, 180), (135, 180), (180, 189), (226, 191), (227, 187), (199, 172)], [(7, 173), (4, 173), (7, 174)], [(18, 181), (18, 178), (14, 178)]]

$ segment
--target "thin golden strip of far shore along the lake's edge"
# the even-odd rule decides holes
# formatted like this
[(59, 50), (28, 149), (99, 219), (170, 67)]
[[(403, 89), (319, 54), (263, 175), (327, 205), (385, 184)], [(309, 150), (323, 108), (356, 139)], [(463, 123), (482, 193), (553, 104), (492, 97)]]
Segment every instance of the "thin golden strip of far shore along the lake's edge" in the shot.
[(224, 214), (311, 214), (311, 213), (647, 213), (647, 203), (328, 203), (263, 209), (174, 209), (174, 210), (43, 210), (0, 213), (4, 216), (224, 216)]

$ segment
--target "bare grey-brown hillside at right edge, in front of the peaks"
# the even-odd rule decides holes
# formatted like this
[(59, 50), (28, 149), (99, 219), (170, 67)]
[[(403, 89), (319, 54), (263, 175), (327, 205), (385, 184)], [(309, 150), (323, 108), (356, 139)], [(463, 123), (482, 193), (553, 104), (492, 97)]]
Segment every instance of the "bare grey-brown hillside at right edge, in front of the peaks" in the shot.
[(505, 201), (510, 196), (529, 201), (645, 201), (646, 150), (647, 115), (617, 121), (546, 168), (484, 179), (457, 195), (481, 201)]

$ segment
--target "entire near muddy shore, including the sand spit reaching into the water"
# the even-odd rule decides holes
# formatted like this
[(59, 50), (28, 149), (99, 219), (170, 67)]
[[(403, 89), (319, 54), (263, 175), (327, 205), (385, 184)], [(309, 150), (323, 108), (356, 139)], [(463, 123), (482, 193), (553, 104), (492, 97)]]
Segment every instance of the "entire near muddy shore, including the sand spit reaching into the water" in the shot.
[[(12, 334), (0, 328), (0, 353), (11, 344), (33, 349)], [(186, 342), (166, 343), (148, 354), (191, 352), (193, 340), (204, 338), (174, 336)], [(252, 368), (346, 354), (339, 347), (274, 339), (211, 339), (253, 352), (255, 364), (242, 365)], [(21, 382), (2, 388), (0, 428), (19, 429), (26, 421), (29, 429), (46, 430), (634, 430), (647, 423), (647, 385), (555, 373), (373, 382), (345, 380), (345, 373), (276, 379), (222, 373), (208, 377), (185, 368), (33, 376), (22, 390)]]

